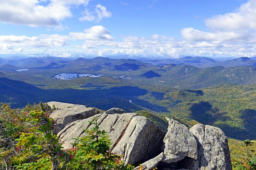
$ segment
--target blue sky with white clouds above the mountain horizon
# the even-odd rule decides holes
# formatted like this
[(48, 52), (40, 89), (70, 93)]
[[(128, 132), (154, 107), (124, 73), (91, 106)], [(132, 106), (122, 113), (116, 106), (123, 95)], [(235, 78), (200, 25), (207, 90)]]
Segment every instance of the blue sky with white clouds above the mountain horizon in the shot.
[(0, 54), (256, 56), (256, 0), (0, 0)]

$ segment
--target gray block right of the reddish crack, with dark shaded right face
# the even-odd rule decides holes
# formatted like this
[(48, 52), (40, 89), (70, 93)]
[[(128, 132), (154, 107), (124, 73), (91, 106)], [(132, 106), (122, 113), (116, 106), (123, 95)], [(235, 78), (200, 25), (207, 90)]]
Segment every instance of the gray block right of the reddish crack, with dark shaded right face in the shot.
[(147, 161), (161, 153), (165, 134), (153, 121), (143, 116), (135, 116), (113, 148), (113, 153), (124, 155), (126, 164)]

